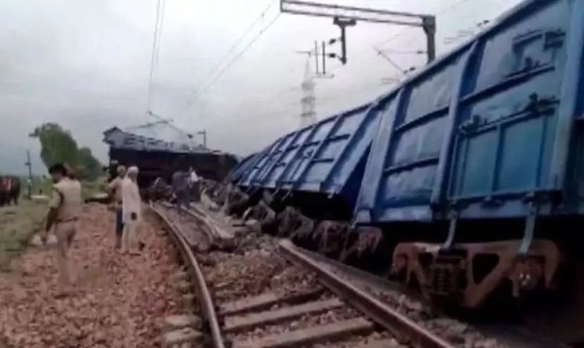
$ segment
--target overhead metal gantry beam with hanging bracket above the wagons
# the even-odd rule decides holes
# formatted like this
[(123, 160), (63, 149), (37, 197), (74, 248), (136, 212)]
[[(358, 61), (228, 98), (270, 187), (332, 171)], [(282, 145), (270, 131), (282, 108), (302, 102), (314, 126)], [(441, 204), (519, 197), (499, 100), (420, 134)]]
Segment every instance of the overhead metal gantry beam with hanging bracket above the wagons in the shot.
[[(426, 36), (425, 53), (428, 55), (428, 63), (436, 58), (436, 18), (434, 15), (378, 10), (375, 8), (360, 8), (354, 6), (318, 4), (297, 0), (280, 0), (280, 11), (296, 15), (333, 18), (333, 24), (338, 25), (341, 30), (341, 55), (336, 58), (339, 58), (342, 64), (347, 63), (346, 28), (356, 25), (359, 20), (370, 23), (421, 27)], [(335, 54), (333, 54), (332, 58), (335, 58)]]

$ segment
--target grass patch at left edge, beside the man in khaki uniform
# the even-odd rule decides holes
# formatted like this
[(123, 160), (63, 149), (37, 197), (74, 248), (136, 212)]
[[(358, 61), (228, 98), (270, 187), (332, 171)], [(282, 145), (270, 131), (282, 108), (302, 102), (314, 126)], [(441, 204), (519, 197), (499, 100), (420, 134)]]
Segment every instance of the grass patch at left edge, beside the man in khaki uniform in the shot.
[(25, 250), (45, 212), (46, 204), (31, 201), (0, 208), (0, 270), (6, 271), (11, 259)]

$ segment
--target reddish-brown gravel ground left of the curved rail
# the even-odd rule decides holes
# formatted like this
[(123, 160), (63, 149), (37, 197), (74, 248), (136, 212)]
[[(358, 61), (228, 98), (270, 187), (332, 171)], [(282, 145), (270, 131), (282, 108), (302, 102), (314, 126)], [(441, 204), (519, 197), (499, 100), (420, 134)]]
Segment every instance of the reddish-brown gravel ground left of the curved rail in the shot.
[[(6, 231), (26, 240), (35, 221), (39, 225), (39, 218), (26, 218), (38, 213), (24, 207), (1, 216), (2, 246), (23, 244), (6, 242)], [(13, 227), (6, 229), (8, 220)], [(29, 247), (13, 255), (0, 273), (0, 348), (159, 347), (163, 318), (178, 313), (168, 282), (178, 266), (153, 221), (147, 218), (139, 234), (144, 254), (120, 255), (113, 247), (113, 214), (99, 204), (85, 206), (70, 251), (76, 292), (65, 298), (54, 297), (54, 249)]]

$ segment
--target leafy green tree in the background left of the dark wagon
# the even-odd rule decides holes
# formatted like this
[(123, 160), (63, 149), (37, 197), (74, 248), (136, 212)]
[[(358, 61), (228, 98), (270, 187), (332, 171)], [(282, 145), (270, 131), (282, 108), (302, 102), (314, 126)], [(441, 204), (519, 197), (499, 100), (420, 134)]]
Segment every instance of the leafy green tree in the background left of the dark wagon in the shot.
[(39, 139), (41, 159), (44, 165), (68, 163), (82, 178), (94, 180), (101, 175), (101, 163), (88, 147), (79, 148), (71, 132), (57, 123), (43, 123), (33, 130), (29, 137)]

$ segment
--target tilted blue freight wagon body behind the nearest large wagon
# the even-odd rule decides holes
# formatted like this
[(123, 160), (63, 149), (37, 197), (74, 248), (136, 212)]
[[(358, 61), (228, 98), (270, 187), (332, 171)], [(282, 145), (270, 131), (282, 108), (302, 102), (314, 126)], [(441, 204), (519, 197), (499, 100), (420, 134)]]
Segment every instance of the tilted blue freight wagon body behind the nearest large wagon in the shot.
[(310, 216), (324, 211), (350, 219), (382, 112), (366, 104), (280, 137), (242, 170), (238, 186), (256, 198), (249, 204), (269, 191)]

